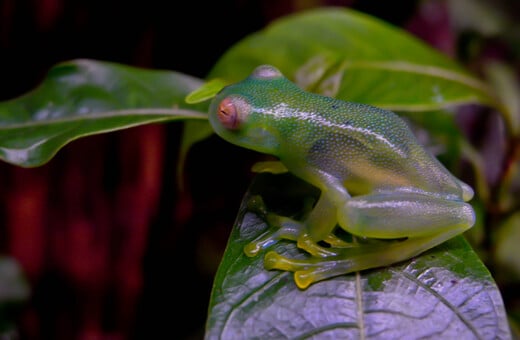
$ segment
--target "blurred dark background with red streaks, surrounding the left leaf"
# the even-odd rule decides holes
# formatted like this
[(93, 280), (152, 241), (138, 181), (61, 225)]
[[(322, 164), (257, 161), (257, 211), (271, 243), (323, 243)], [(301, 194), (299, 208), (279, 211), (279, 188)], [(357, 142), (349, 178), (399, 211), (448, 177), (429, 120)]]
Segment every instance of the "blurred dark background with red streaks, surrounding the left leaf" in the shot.
[[(442, 2), (421, 3), (0, 0), (0, 100), (74, 58), (203, 78), (247, 34), (312, 6), (364, 11), (455, 56), (461, 38)], [(203, 337), (213, 275), (257, 155), (217, 137), (197, 144), (181, 194), (181, 128), (81, 139), (35, 169), (0, 164), (0, 250), (18, 260), (32, 291), (18, 314), (21, 338)]]

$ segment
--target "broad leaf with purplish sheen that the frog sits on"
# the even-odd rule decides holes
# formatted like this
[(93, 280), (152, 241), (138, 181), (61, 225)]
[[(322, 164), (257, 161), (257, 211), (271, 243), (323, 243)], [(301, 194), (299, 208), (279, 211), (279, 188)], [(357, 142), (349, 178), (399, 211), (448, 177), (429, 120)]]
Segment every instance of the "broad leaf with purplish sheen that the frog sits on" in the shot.
[[(294, 216), (317, 191), (291, 175), (256, 177), (215, 277), (206, 339), (511, 338), (499, 290), (462, 236), (403, 263), (300, 290), (291, 273), (265, 270), (263, 254), (243, 253), (267, 228), (247, 208), (258, 194)], [(273, 248), (302, 255), (292, 242)]]

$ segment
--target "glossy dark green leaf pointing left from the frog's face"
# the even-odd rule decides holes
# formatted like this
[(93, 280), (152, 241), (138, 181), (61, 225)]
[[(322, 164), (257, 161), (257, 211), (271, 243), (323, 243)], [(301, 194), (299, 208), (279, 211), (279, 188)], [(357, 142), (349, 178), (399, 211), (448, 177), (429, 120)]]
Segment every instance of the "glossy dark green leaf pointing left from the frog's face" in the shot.
[(154, 122), (207, 119), (205, 106), (184, 101), (201, 84), (177, 72), (94, 60), (59, 64), (34, 91), (0, 103), (0, 159), (38, 166), (83, 136)]

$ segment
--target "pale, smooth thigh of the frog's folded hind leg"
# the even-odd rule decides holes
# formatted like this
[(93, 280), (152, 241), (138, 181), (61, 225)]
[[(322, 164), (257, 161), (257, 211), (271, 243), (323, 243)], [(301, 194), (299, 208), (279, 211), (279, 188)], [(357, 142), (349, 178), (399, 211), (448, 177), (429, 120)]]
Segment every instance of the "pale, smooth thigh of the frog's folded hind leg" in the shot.
[(415, 193), (382, 193), (349, 199), (338, 210), (338, 222), (348, 232), (364, 237), (421, 237), (470, 228), (471, 206)]

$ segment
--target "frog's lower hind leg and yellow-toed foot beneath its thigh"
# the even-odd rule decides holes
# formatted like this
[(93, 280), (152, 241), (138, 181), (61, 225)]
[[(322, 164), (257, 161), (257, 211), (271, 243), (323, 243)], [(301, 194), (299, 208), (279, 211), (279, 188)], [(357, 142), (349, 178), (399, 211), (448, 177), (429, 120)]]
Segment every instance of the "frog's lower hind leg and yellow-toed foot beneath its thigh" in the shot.
[(270, 251), (265, 255), (264, 267), (294, 272), (294, 281), (301, 289), (331, 277), (370, 268), (388, 266), (416, 256), (460, 233), (454, 229), (430, 237), (388, 240), (359, 244), (351, 248), (335, 248), (336, 255), (327, 258), (311, 256), (291, 259)]

